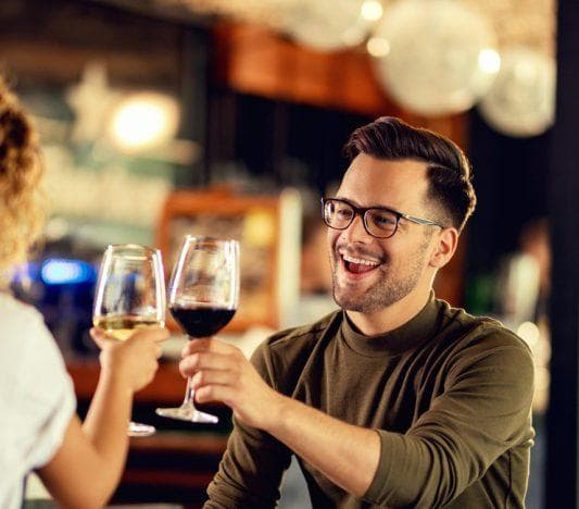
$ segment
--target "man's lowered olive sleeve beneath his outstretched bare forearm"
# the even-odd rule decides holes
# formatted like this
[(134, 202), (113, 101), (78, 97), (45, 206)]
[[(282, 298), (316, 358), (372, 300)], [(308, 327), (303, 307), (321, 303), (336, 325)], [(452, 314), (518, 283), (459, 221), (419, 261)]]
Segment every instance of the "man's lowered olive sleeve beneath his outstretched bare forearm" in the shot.
[[(256, 349), (251, 362), (265, 382), (276, 388), (265, 345)], [(203, 507), (275, 507), (280, 496), (281, 477), (290, 460), (291, 451), (272, 435), (234, 420), (227, 450), (207, 488), (209, 500)]]

